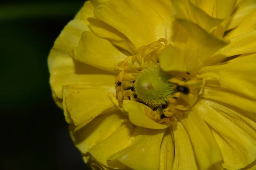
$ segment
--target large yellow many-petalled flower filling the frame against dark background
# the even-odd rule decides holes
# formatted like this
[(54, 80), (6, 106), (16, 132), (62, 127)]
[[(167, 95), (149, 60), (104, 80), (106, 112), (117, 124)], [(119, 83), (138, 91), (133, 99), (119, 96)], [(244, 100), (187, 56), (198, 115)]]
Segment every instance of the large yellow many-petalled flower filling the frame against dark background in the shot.
[(85, 2), (48, 59), (84, 161), (253, 170), (255, 26), (255, 0)]

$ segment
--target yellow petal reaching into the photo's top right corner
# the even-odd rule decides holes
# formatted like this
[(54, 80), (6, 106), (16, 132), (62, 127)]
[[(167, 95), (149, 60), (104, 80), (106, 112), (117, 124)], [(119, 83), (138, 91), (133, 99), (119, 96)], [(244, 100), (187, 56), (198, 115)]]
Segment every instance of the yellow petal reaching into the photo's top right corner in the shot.
[(244, 20), (245, 17), (248, 17), (252, 11), (256, 10), (255, 0), (244, 0), (239, 3), (238, 6), (233, 11), (233, 14), (230, 17), (230, 21), (227, 25), (226, 30), (233, 29), (239, 25)]

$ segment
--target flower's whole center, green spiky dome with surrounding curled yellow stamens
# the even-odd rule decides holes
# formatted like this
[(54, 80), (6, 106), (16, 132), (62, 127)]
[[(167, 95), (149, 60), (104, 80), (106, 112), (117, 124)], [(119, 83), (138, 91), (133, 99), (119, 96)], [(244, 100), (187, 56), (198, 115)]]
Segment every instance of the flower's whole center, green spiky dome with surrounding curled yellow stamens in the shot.
[(124, 100), (140, 102), (149, 107), (145, 114), (150, 119), (175, 126), (195, 103), (204, 83), (196, 74), (163, 71), (158, 57), (166, 45), (160, 39), (142, 46), (116, 66), (116, 98), (120, 108)]

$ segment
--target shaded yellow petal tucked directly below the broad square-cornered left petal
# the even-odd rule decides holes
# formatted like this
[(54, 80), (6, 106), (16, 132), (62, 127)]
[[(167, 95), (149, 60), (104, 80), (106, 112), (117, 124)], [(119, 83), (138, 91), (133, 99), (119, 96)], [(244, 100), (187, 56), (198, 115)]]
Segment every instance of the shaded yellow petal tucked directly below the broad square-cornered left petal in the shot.
[(74, 144), (81, 153), (86, 153), (90, 148), (111, 136), (123, 124), (122, 119), (125, 117), (119, 111), (100, 115), (76, 132), (74, 132), (75, 126), (71, 125), (70, 134)]

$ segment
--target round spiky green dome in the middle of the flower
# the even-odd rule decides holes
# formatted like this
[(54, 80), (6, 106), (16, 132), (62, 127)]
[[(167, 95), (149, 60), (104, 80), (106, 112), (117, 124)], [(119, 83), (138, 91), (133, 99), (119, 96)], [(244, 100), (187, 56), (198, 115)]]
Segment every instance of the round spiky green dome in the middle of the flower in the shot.
[(175, 94), (174, 84), (168, 81), (171, 78), (159, 65), (143, 69), (135, 82), (138, 99), (147, 105), (165, 105), (167, 98)]

